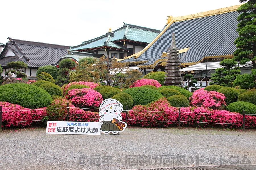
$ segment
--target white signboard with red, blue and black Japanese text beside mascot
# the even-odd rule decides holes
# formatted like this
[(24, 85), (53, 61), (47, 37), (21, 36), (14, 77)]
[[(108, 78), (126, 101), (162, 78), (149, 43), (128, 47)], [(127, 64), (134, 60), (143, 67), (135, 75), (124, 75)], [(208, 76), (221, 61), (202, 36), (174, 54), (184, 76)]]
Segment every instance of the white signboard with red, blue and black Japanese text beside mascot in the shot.
[(46, 134), (100, 135), (99, 122), (47, 121)]

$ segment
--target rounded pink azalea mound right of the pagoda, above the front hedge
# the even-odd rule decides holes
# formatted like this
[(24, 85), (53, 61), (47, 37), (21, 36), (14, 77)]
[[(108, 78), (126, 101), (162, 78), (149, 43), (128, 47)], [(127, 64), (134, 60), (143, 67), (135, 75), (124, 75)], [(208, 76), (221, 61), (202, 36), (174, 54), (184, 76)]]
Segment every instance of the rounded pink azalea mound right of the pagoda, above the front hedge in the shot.
[(190, 106), (207, 107), (210, 109), (223, 109), (226, 106), (226, 97), (219, 92), (199, 89), (189, 98)]

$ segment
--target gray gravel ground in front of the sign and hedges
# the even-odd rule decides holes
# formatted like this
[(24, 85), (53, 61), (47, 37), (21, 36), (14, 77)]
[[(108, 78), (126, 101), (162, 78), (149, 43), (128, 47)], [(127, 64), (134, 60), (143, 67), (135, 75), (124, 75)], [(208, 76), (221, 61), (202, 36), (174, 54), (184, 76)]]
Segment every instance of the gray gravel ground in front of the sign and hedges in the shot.
[(120, 135), (0, 133), (0, 169), (141, 169), (256, 164), (256, 130), (127, 127)]

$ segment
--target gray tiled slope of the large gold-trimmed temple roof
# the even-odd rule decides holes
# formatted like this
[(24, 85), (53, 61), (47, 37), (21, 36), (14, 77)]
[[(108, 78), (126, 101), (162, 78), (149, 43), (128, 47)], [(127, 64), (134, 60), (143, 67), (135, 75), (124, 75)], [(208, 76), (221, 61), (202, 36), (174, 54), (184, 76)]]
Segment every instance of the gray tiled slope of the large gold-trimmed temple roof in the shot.
[[(239, 13), (236, 11), (217, 15), (173, 22), (160, 37), (137, 58), (127, 58), (121, 62), (134, 63), (145, 61), (148, 66), (161, 58), (163, 52), (171, 45), (172, 33), (175, 33), (175, 42), (178, 49), (190, 47), (182, 57), (181, 63), (197, 63), (209, 56), (232, 55), (236, 50), (234, 45), (238, 37), (236, 32)], [(184, 55), (184, 56), (183, 56)], [(142, 65), (142, 66), (143, 66)]]

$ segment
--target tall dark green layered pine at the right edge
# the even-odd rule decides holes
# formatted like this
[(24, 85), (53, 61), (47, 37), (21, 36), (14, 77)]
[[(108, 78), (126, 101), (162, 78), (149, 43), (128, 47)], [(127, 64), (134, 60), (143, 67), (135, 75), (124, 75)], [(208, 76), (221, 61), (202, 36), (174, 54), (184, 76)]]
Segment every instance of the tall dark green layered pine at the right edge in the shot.
[[(240, 0), (244, 2), (245, 0)], [(239, 21), (236, 31), (239, 37), (236, 38), (234, 44), (238, 49), (234, 52), (234, 60), (245, 64), (248, 61), (253, 62), (253, 68), (256, 69), (256, 3), (255, 0), (249, 0), (241, 5), (237, 12), (241, 13), (237, 17)]]

